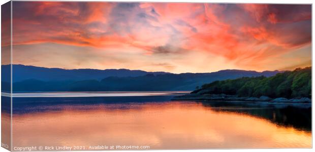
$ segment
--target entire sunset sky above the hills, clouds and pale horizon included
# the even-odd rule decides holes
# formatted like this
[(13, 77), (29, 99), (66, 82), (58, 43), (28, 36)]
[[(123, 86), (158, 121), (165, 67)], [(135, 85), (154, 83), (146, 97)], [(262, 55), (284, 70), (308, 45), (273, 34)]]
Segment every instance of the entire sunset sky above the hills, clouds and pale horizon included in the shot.
[(173, 73), (311, 65), (311, 5), (13, 2), (12, 16), (13, 64)]

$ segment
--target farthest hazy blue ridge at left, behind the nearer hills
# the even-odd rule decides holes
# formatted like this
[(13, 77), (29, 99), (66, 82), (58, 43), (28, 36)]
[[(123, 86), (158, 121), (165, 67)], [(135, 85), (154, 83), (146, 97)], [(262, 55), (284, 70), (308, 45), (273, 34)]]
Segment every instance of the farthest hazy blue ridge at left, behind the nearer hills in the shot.
[[(10, 69), (10, 65), (2, 65), (1, 68), (3, 70)], [(100, 81), (107, 77), (139, 77), (148, 73), (152, 73), (154, 75), (167, 73), (129, 69), (62, 69), (21, 64), (14, 64), (12, 68), (13, 82), (20, 82), (29, 79), (36, 79), (39, 81), (81, 81), (94, 79)]]

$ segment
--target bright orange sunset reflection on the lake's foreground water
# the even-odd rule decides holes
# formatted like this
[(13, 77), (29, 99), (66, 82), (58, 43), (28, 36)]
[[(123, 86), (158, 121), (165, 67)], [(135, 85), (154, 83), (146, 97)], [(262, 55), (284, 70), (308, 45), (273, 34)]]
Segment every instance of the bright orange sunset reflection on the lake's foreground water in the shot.
[[(82, 108), (80, 108), (80, 106)], [(196, 102), (62, 106), (14, 115), (13, 146), (311, 147), (311, 133)]]

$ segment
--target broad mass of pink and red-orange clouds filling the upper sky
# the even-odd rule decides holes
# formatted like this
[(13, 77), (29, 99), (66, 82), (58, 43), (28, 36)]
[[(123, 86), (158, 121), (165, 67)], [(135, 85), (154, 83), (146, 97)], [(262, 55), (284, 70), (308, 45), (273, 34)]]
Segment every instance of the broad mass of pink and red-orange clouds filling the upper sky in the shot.
[(311, 5), (13, 2), (13, 10), (14, 45), (130, 50), (161, 63), (198, 52), (258, 67), (311, 44)]

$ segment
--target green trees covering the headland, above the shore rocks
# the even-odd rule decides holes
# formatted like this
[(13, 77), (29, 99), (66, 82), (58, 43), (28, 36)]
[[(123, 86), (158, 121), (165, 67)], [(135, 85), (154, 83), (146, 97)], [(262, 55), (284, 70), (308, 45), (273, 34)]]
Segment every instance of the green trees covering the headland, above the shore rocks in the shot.
[(311, 67), (277, 73), (273, 77), (243, 77), (215, 81), (193, 91), (193, 93), (198, 92), (202, 94), (223, 93), (240, 97), (311, 97)]

